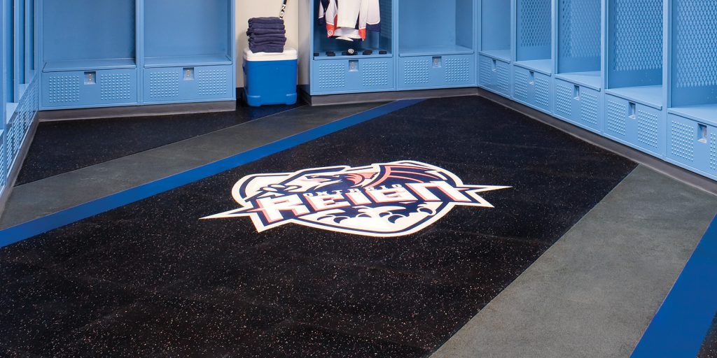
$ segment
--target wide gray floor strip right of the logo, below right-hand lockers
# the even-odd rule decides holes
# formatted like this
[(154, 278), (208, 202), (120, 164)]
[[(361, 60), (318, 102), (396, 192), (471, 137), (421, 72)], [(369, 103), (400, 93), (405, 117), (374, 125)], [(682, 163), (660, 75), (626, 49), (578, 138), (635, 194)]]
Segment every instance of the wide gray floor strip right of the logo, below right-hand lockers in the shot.
[(638, 167), (432, 357), (629, 357), (716, 213)]

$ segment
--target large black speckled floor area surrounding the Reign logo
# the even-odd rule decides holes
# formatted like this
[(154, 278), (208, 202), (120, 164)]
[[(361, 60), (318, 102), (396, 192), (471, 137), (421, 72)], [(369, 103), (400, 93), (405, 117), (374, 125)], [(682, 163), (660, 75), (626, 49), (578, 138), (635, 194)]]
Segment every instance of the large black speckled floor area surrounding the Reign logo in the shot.
[[(199, 220), (245, 175), (397, 160), (513, 188), (399, 238)], [(425, 357), (633, 168), (480, 97), (427, 100), (0, 249), (0, 352)]]

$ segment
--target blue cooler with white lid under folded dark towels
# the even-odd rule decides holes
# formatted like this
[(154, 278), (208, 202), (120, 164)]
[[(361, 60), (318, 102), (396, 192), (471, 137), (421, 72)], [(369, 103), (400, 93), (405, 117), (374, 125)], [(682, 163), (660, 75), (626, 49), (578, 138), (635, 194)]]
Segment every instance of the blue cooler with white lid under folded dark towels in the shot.
[(296, 103), (295, 49), (283, 53), (244, 49), (244, 100), (252, 107)]

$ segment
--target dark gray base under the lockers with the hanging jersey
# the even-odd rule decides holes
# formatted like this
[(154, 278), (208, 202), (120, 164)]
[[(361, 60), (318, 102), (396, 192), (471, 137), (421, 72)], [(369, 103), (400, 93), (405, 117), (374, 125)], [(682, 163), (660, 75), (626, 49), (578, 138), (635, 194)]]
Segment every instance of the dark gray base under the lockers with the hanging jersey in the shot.
[(348, 105), (356, 103), (386, 102), (398, 100), (422, 100), (427, 98), (461, 97), (478, 95), (478, 87), (417, 89), (414, 91), (368, 92), (346, 95), (312, 96), (306, 87), (300, 87), (303, 100), (312, 106)]

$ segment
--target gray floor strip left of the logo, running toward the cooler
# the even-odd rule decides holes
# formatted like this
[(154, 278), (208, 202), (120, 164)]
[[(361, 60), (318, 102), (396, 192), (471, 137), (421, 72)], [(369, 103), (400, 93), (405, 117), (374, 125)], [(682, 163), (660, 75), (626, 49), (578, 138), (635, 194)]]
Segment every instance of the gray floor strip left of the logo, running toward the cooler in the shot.
[(0, 229), (244, 153), (383, 104), (300, 107), (146, 152), (16, 186)]

